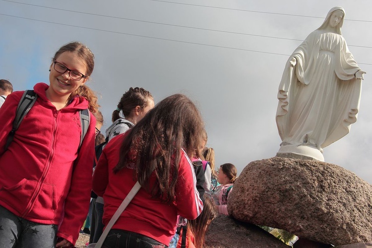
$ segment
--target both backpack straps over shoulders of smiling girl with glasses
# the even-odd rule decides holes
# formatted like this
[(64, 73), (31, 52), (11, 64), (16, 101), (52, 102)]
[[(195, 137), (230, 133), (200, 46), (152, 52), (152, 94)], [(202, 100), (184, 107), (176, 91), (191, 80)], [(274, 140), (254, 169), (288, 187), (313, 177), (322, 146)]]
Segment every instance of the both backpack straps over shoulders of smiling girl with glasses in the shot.
[[(36, 102), (38, 95), (33, 90), (25, 90), (23, 93), (21, 100), (18, 103), (17, 111), (15, 112), (15, 119), (13, 121), (13, 128), (10, 131), (6, 144), (5, 150), (10, 145), (11, 141), (14, 138), (15, 131), (18, 129), (19, 125), (21, 124), (25, 115), (30, 111), (31, 107)], [(80, 136), (80, 144), (79, 148), (84, 140), (85, 134), (88, 131), (89, 123), (90, 123), (90, 114), (88, 109), (79, 110), (80, 122), (81, 122), (81, 133)]]

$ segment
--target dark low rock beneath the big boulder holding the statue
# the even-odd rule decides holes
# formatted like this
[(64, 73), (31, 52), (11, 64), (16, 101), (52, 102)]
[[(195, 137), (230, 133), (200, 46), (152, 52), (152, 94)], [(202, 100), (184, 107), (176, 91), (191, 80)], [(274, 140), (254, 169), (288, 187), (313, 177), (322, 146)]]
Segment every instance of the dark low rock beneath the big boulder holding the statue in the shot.
[(260, 227), (220, 214), (205, 235), (204, 248), (290, 248)]

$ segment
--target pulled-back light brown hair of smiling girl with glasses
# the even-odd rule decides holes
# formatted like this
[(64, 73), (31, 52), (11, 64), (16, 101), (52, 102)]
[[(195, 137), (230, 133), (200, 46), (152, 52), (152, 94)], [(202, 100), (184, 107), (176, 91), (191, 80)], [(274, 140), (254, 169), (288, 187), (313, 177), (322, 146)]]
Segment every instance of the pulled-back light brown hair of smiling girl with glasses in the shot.
[[(93, 72), (94, 68), (94, 55), (90, 49), (80, 42), (70, 42), (68, 44), (63, 45), (54, 55), (52, 61), (56, 61), (56, 59), (64, 52), (70, 52), (76, 54), (82, 62), (85, 63), (87, 72), (86, 76), (89, 78)], [(82, 96), (85, 97), (89, 102), (89, 111), (95, 113), (98, 111), (100, 107), (97, 103), (97, 96), (96, 93), (91, 90), (86, 84), (82, 84), (77, 90), (71, 93), (67, 102), (71, 101), (75, 96)]]

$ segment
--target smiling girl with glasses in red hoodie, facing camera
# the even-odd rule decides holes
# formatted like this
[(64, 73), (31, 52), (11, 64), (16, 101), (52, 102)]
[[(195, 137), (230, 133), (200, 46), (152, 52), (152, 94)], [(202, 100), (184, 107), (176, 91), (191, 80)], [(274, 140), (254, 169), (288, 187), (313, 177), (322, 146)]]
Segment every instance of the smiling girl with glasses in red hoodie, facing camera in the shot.
[(96, 124), (90, 114), (80, 145), (79, 111), (99, 107), (85, 85), (93, 59), (79, 42), (56, 52), (49, 85), (34, 86), (38, 98), (7, 149), (23, 92), (10, 94), (0, 109), (1, 247), (68, 247), (78, 238), (89, 207)]

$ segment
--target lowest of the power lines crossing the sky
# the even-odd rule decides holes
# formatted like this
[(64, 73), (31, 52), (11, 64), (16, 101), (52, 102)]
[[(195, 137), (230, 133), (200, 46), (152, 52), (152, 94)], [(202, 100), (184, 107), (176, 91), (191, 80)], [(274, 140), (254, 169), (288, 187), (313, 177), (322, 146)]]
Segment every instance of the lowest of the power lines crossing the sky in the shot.
[[(216, 47), (216, 48), (225, 48), (225, 49), (232, 49), (232, 50), (240, 50), (240, 51), (247, 51), (247, 52), (254, 52), (254, 53), (262, 53), (262, 54), (273, 54), (273, 55), (281, 55), (289, 57), (288, 54), (279, 54), (279, 53), (270, 53), (270, 52), (264, 52), (264, 51), (256, 51), (256, 50), (249, 50), (249, 49), (241, 49), (241, 48), (232, 48), (232, 47), (224, 47), (224, 46), (216, 46), (216, 45), (209, 45), (209, 44), (203, 44), (203, 43), (196, 43), (196, 42), (188, 42), (188, 41), (179, 41), (179, 40), (172, 40), (172, 39), (165, 39), (165, 38), (158, 38), (158, 37), (152, 37), (152, 36), (145, 36), (145, 35), (137, 35), (137, 34), (130, 34), (130, 33), (123, 33), (118, 31), (110, 31), (105, 29), (98, 29), (98, 28), (90, 28), (90, 27), (83, 27), (83, 26), (77, 26), (77, 25), (70, 25), (70, 24), (64, 24), (64, 23), (58, 23), (53, 21), (44, 21), (44, 20), (38, 20), (33, 18), (27, 18), (27, 17), (21, 17), (21, 16), (15, 16), (15, 15), (8, 15), (8, 14), (2, 14), (5, 16), (15, 17), (15, 18), (21, 18), (26, 20), (33, 20), (33, 21), (40, 21), (40, 22), (46, 22), (46, 23), (52, 23), (52, 24), (58, 24), (63, 26), (69, 26), (69, 27), (77, 27), (77, 28), (85, 28), (90, 30), (96, 30), (96, 31), (102, 31), (102, 32), (108, 32), (108, 33), (115, 33), (115, 34), (124, 34), (124, 35), (130, 35), (130, 36), (136, 36), (136, 37), (143, 37), (143, 38), (150, 38), (150, 39), (157, 39), (157, 40), (163, 40), (163, 41), (172, 41), (172, 42), (180, 42), (185, 44), (193, 44), (193, 45), (200, 45), (200, 46), (207, 46), (207, 47)], [(372, 65), (372, 63), (359, 63), (359, 64), (368, 64)]]

